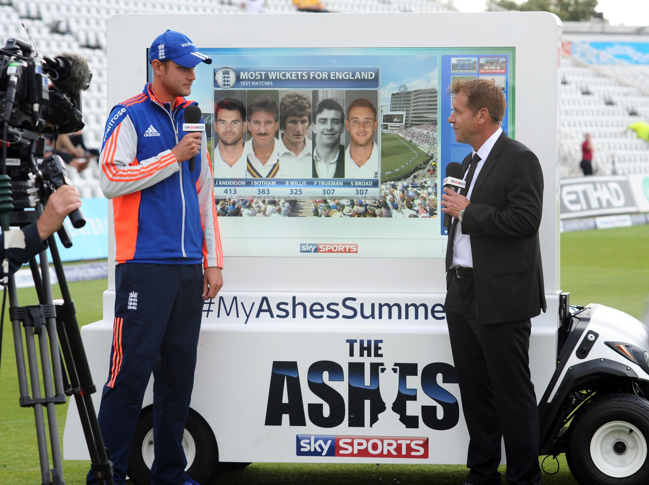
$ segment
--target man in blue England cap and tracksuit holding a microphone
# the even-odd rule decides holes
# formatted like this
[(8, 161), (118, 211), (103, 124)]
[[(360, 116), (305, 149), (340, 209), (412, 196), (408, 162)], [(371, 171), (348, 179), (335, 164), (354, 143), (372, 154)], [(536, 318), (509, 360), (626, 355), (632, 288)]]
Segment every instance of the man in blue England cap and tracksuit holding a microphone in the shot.
[[(194, 68), (212, 59), (166, 31), (151, 44), (153, 81), (114, 106), (99, 181), (113, 199), (115, 319), (99, 427), (123, 485), (144, 392), (153, 385), (153, 485), (193, 485), (182, 438), (190, 407), (202, 303), (223, 285), (223, 250), (206, 136), (184, 132)], [(194, 171), (186, 163), (197, 156)], [(141, 450), (134, 450), (134, 453)], [(99, 471), (99, 470), (98, 470)], [(145, 480), (147, 477), (138, 477)], [(94, 471), (88, 484), (96, 484)]]

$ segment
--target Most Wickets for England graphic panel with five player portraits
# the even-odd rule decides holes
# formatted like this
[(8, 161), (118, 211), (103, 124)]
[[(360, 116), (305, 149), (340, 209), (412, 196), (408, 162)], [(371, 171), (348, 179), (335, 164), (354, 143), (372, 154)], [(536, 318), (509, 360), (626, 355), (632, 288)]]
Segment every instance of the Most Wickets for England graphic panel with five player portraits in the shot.
[[(379, 68), (361, 64), (345, 68), (295, 68), (239, 63), (214, 68), (218, 138), (214, 148), (215, 194), (234, 195), (230, 189), (236, 188), (241, 197), (313, 199), (323, 195), (354, 197), (358, 188), (363, 188), (363, 195), (379, 197), (380, 140), (373, 136), (380, 99)], [(246, 112), (245, 119), (241, 119), (243, 130), (236, 137), (243, 140), (245, 131), (246, 141), (240, 144), (243, 151), (236, 159), (228, 157), (223, 149), (230, 133), (219, 131), (225, 123), (219, 113), (228, 104), (230, 92), (235, 93)], [(363, 93), (361, 100), (356, 93)], [(370, 113), (371, 119), (354, 118), (345, 123), (350, 105), (354, 113), (362, 111), (364, 117)], [(319, 117), (321, 106), (326, 107), (326, 114), (336, 112), (336, 127), (332, 119)], [(361, 129), (356, 130), (356, 125)], [(345, 151), (341, 169), (337, 169), (345, 129), (347, 133), (350, 129), (351, 133), (358, 131), (358, 136), (354, 135), (358, 143), (350, 143), (352, 147)], [(377, 138), (376, 142), (373, 138)], [(368, 145), (370, 142), (373, 144)]]

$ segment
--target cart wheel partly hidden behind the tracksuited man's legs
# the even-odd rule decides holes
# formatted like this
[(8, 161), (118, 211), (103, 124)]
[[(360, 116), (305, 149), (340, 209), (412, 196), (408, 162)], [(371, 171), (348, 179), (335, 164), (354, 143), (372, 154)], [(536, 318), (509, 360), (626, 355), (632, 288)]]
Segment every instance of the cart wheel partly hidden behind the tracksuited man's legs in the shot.
[[(219, 451), (212, 429), (201, 415), (190, 409), (185, 423), (183, 448), (187, 458), (187, 473), (201, 485), (216, 482)], [(135, 485), (151, 485), (153, 464), (153, 408), (142, 410), (140, 420), (130, 442), (129, 478)]]

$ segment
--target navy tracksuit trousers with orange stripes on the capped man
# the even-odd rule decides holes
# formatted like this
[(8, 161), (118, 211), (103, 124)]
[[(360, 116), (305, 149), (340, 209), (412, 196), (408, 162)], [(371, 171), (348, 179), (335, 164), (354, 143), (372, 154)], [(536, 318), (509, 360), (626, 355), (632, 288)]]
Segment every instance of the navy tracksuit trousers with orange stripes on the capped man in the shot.
[[(110, 373), (99, 427), (123, 485), (130, 440), (153, 372), (152, 485), (190, 479), (182, 434), (190, 407), (202, 316), (201, 264), (123, 263), (115, 268), (115, 321)], [(92, 470), (88, 485), (96, 484)]]

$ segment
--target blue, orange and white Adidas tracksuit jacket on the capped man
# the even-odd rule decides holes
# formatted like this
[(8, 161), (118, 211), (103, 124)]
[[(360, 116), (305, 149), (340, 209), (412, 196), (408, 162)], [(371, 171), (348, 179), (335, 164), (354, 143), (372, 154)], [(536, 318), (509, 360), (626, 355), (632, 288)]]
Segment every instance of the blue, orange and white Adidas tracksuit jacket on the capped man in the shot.
[(207, 138), (195, 171), (171, 153), (182, 131), (184, 97), (175, 108), (151, 84), (114, 106), (101, 145), (99, 181), (113, 199), (115, 260), (223, 267)]

